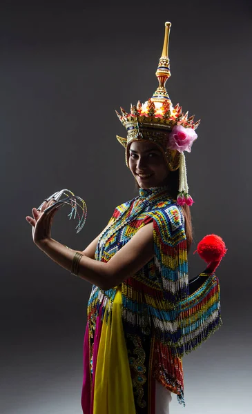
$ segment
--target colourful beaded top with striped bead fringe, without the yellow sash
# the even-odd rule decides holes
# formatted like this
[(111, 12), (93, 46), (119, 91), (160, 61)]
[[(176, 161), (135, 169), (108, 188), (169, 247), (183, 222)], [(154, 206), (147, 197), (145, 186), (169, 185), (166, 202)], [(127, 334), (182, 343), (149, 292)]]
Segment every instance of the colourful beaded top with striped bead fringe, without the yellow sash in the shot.
[[(220, 286), (215, 275), (207, 277), (189, 295), (184, 214), (182, 207), (168, 196), (166, 187), (140, 188), (139, 197), (115, 208), (110, 225), (97, 244), (95, 259), (108, 262), (150, 221), (153, 221), (155, 257), (134, 277), (122, 282), (122, 321), (129, 364), (133, 361), (130, 355), (139, 346), (146, 357), (144, 370), (149, 375), (145, 388), (139, 377), (136, 381), (132, 375), (137, 413), (143, 414), (153, 412), (150, 406), (141, 408), (140, 398), (150, 393), (153, 378), (176, 393), (178, 401), (184, 404), (181, 358), (200, 346), (222, 324)], [(93, 286), (88, 301), (89, 326), (95, 323), (98, 313), (102, 319), (110, 301), (104, 321), (108, 322), (116, 292), (116, 287), (104, 291)]]

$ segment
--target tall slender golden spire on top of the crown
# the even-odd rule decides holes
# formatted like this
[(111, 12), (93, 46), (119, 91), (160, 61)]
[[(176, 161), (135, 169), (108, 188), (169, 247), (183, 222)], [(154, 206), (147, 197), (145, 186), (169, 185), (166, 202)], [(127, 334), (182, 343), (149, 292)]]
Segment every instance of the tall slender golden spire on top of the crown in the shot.
[(168, 100), (171, 102), (171, 99), (167, 93), (165, 84), (167, 79), (171, 76), (170, 72), (170, 59), (168, 58), (168, 43), (169, 43), (169, 34), (171, 29), (171, 23), (166, 21), (165, 23), (165, 32), (164, 32), (164, 46), (162, 50), (162, 56), (159, 59), (159, 65), (157, 67), (156, 77), (158, 79), (159, 86), (151, 101), (155, 102), (164, 102), (164, 100)]

